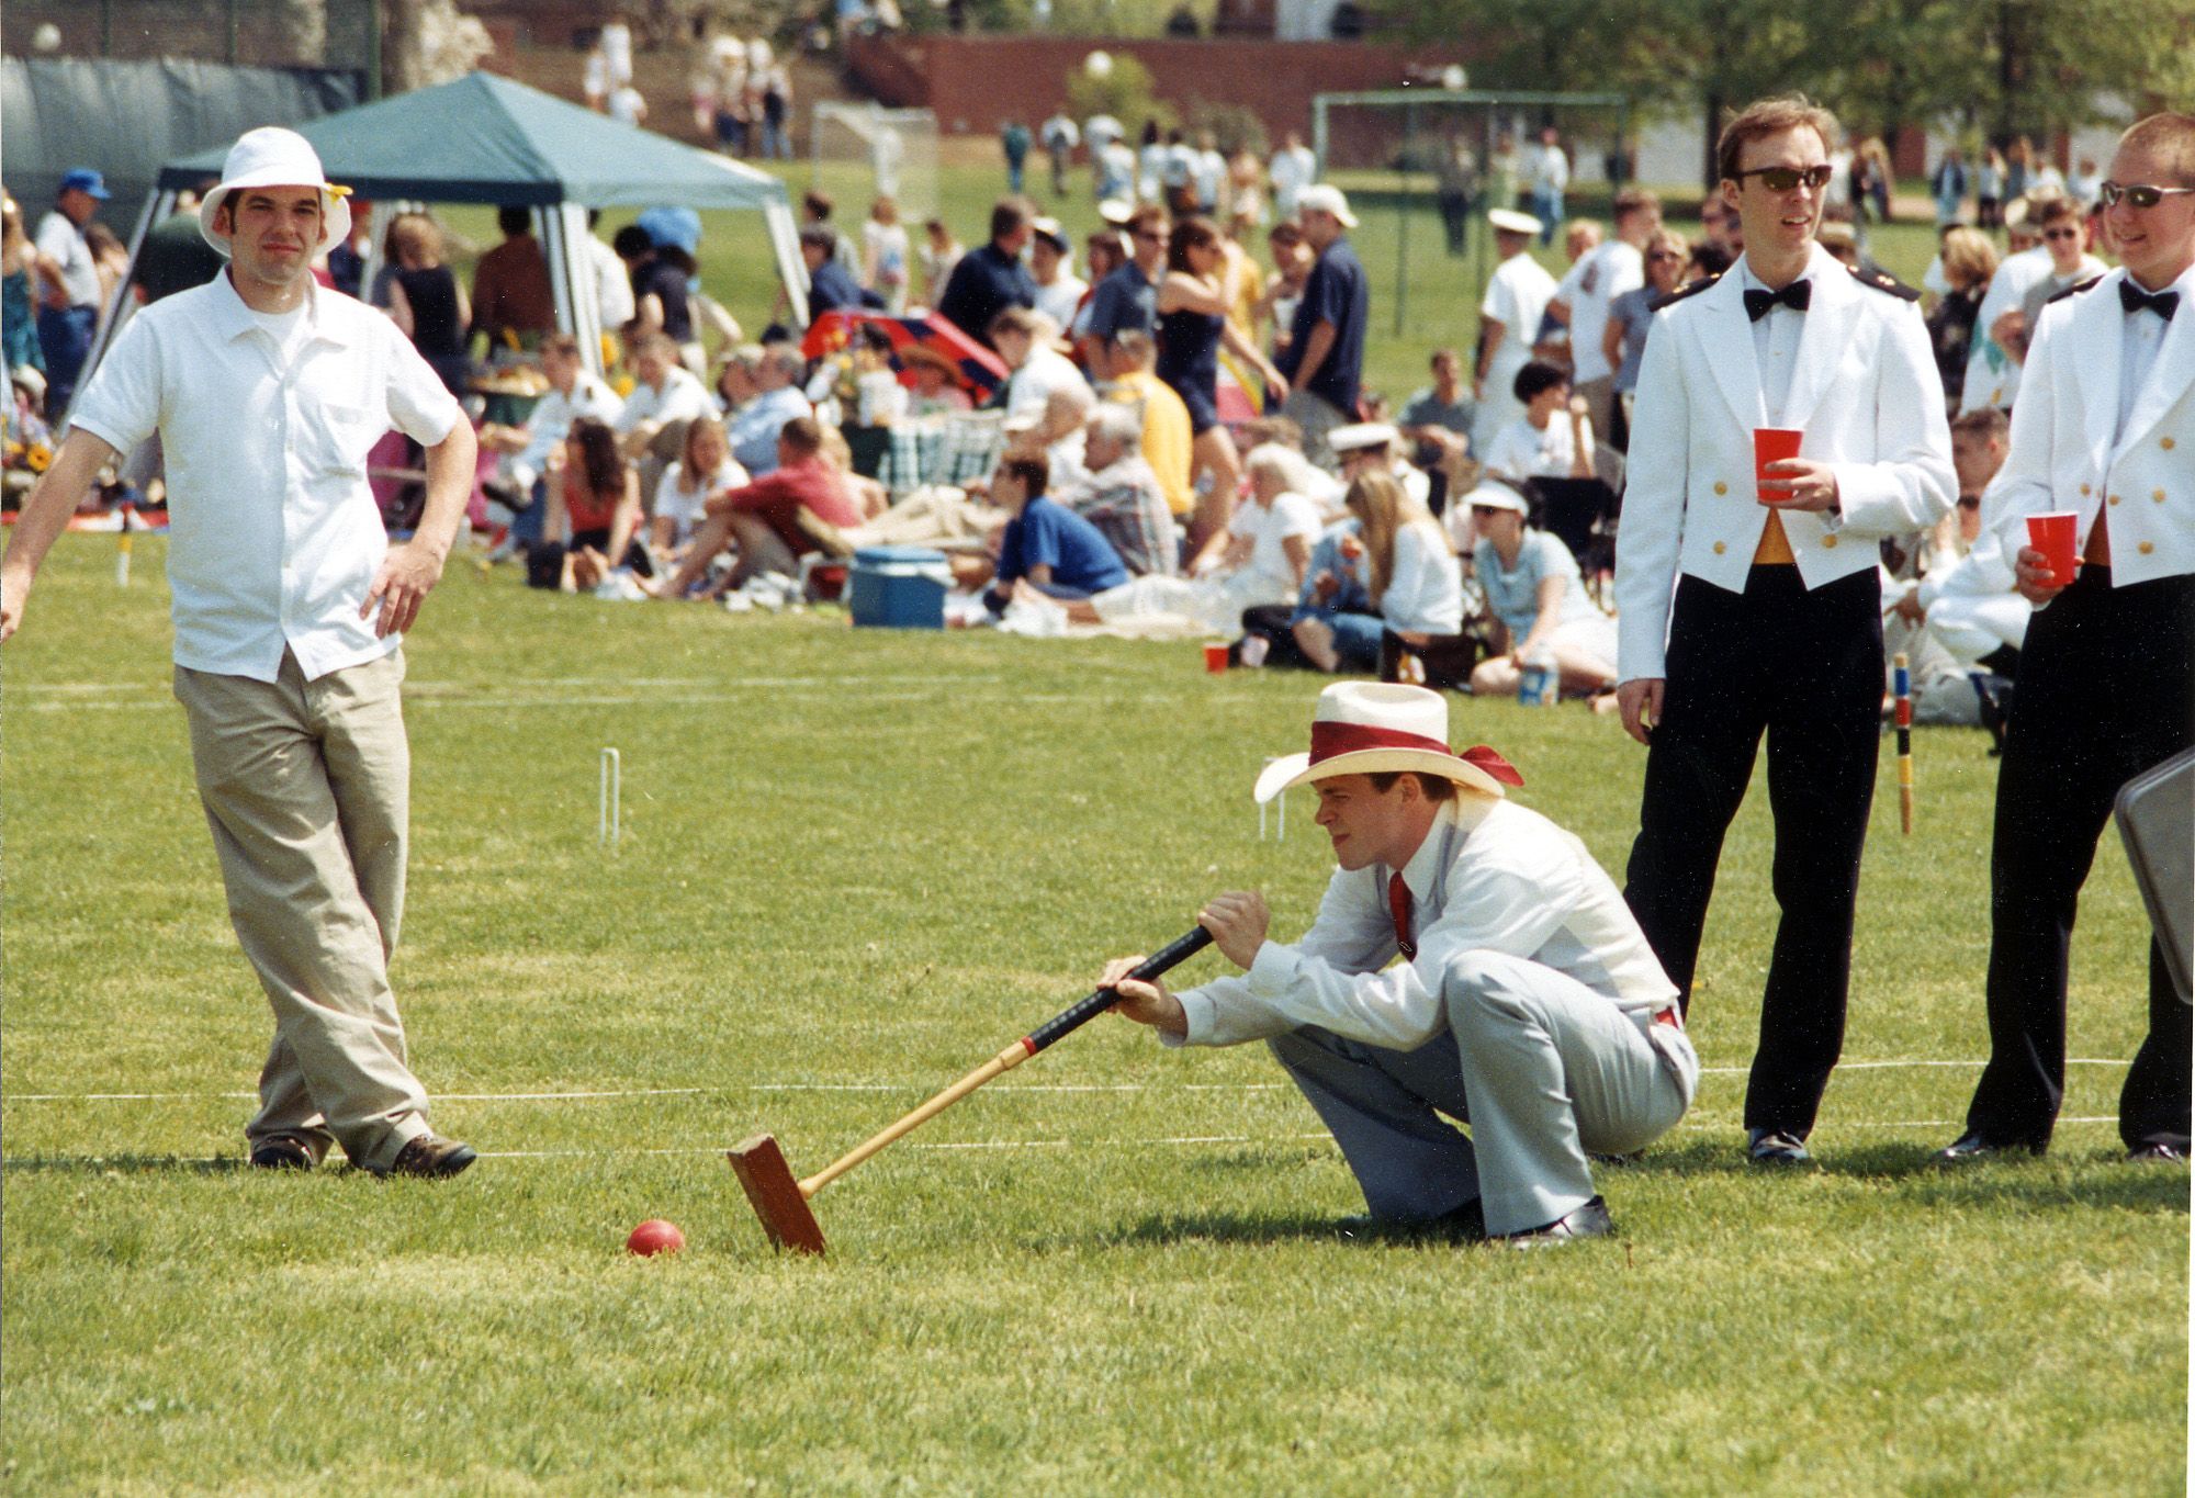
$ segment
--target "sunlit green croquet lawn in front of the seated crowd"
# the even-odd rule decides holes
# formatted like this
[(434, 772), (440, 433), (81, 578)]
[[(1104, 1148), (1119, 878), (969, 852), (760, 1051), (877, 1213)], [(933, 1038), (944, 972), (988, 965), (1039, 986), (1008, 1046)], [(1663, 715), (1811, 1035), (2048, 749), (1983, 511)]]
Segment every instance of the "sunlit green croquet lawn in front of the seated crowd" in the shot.
[[(854, 633), (459, 562), (410, 652), (397, 984), (448, 1184), (239, 1169), (268, 1039), (167, 692), (160, 545), (68, 536), (7, 646), (4, 1485), (24, 1494), (2180, 1494), (2188, 1177), (2127, 1166), (2142, 916), (2105, 846), (2065, 1122), (1943, 1177), (1982, 1057), (1978, 731), (1877, 802), (1820, 1171), (1741, 1162), (1774, 907), (1732, 830), (1708, 1076), (1620, 1237), (1337, 1241), (1354, 1186), (1260, 1048), (1100, 1021), (830, 1186), (775, 1259), (724, 1147), (814, 1171), (1328, 859), (1249, 782), (1315, 681), (1194, 646)], [(1457, 698), (1620, 870), (1640, 753)], [(623, 841), (595, 839), (623, 753)], [(1302, 793), (1297, 793), (1302, 797)], [(1207, 953), (1183, 971), (1212, 975)], [(623, 1252), (643, 1217), (689, 1250)]]

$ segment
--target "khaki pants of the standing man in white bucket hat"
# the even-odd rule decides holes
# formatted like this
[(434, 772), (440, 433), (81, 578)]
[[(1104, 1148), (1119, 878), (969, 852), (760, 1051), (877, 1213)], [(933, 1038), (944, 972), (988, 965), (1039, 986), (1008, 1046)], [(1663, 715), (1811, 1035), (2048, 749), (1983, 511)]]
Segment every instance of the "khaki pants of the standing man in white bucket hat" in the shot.
[(274, 1008), (246, 1136), (329, 1140), (384, 1169), (428, 1131), (389, 953), (404, 914), (402, 652), (274, 683), (176, 668), (228, 918)]

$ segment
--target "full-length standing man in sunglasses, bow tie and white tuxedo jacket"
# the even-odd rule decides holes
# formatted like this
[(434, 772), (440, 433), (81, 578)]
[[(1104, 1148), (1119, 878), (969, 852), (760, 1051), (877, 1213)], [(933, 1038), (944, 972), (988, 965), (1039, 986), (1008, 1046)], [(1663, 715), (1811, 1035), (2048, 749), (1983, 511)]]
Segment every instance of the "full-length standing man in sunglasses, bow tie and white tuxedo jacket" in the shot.
[[(1835, 119), (1765, 99), (1723, 130), (1745, 257), (1664, 299), (1646, 340), (1616, 560), (1618, 705), (1648, 745), (1624, 896), (1690, 993), (1723, 830), (1763, 734), (1782, 920), (1747, 1149), (1800, 1164), (1844, 1043), (1883, 692), (1877, 540), (1954, 492), (1918, 292), (1815, 244)], [(1754, 431), (1800, 457), (1754, 479)]]

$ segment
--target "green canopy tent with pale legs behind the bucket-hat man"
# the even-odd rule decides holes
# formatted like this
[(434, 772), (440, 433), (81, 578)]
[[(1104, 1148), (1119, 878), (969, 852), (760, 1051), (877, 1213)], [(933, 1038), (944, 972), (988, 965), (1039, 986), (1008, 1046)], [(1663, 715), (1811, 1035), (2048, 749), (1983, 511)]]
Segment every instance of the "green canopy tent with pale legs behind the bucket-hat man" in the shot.
[[(586, 209), (759, 211), (792, 316), (808, 321), (808, 270), (792, 204), (786, 185), (766, 171), (621, 125), (492, 72), (325, 114), (296, 130), (320, 154), (327, 178), (360, 198), (538, 209), (558, 325), (579, 338), (588, 362), (599, 358), (604, 329), (590, 290), (575, 294), (575, 288), (593, 288), (582, 246)], [(160, 169), (130, 246), (132, 261), (147, 226), (173, 213), (176, 193), (219, 176), (226, 156), (222, 145)], [(94, 360), (103, 345), (105, 336), (92, 351)]]

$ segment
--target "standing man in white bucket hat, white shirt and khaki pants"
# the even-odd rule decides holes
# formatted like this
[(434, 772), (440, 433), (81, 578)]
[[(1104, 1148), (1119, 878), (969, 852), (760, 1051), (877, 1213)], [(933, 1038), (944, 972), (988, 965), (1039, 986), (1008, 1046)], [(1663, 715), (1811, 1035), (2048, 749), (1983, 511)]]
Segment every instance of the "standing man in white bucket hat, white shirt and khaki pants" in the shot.
[[(99, 468), (160, 435), (176, 698), (228, 887), (274, 1008), (250, 1162), (312, 1169), (331, 1144), (375, 1175), (454, 1175), (428, 1127), (389, 953), (404, 909), (410, 749), (402, 633), (441, 578), (472, 490), (472, 426), (380, 312), (320, 290), (345, 189), (290, 130), (252, 130), (200, 209), (230, 257), (145, 308), (77, 402), (75, 431), (0, 560), (0, 639)], [(367, 452), (426, 448), (426, 514), (391, 545)]]

